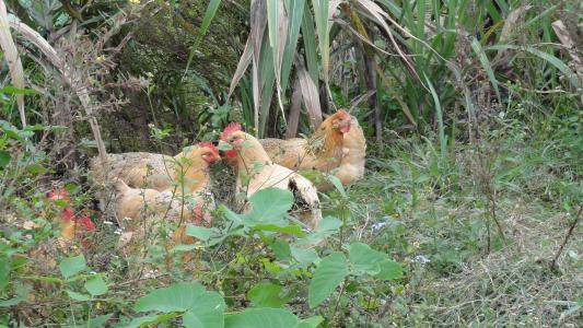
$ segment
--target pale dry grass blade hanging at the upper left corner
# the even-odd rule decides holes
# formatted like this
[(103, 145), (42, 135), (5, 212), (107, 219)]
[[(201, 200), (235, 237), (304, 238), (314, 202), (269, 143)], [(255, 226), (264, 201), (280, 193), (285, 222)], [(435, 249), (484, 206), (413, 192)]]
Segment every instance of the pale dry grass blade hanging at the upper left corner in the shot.
[[(12, 34), (10, 33), (10, 23), (8, 21), (8, 12), (4, 1), (0, 1), (0, 47), (4, 51), (4, 58), (8, 61), (10, 70), (10, 78), (12, 84), (18, 89), (24, 89), (24, 70), (19, 57), (19, 51)], [(22, 127), (26, 127), (26, 115), (24, 113), (24, 94), (16, 94), (16, 104), (19, 106), (19, 114)]]

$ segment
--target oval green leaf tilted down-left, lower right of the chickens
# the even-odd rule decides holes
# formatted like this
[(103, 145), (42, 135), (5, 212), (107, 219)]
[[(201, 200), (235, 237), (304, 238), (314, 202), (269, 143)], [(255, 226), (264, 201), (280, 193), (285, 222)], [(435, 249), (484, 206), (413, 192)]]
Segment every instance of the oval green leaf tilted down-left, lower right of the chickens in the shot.
[(319, 263), (310, 282), (307, 304), (310, 308), (318, 306), (326, 300), (348, 274), (348, 262), (342, 253), (335, 251)]

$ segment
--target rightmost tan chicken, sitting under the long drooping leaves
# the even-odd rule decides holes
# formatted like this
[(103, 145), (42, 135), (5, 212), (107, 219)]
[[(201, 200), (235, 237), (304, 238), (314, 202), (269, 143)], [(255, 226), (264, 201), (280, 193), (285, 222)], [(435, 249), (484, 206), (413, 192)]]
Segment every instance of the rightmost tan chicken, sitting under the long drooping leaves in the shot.
[[(366, 140), (358, 120), (343, 109), (326, 118), (310, 139), (259, 141), (273, 163), (294, 171), (330, 173), (342, 185), (361, 178), (364, 173)], [(320, 177), (315, 183), (319, 191), (331, 187)]]

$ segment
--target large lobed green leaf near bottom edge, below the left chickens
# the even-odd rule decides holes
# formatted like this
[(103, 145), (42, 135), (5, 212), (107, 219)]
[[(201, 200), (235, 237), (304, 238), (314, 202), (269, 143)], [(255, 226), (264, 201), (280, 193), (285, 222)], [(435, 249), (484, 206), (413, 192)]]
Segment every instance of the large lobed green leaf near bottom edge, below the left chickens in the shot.
[(158, 289), (142, 296), (133, 307), (137, 312), (188, 312), (188, 323), (200, 321), (203, 327), (223, 327), (223, 297), (208, 292), (196, 282), (177, 283)]

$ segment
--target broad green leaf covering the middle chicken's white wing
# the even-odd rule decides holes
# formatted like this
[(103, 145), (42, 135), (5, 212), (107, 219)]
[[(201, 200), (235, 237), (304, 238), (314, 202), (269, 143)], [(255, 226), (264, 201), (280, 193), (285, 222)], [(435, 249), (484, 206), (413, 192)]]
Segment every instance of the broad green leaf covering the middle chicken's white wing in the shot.
[(293, 194), (278, 188), (266, 188), (249, 197), (252, 212), (245, 216), (247, 225), (288, 225), (285, 216), (293, 204)]

